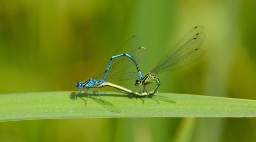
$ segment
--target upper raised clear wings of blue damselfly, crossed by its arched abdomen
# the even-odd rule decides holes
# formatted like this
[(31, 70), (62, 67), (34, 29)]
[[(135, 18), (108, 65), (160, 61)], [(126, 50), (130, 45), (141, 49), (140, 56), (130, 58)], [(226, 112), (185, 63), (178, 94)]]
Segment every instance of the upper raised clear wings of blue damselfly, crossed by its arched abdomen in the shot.
[[(113, 56), (127, 53), (133, 56), (133, 59), (138, 62), (147, 51), (146, 48), (136, 47), (140, 41), (141, 37), (139, 35), (133, 35), (113, 54)], [(108, 63), (109, 62), (106, 62), (104, 66), (95, 74), (93, 77), (95, 80), (102, 79)], [(107, 75), (109, 76), (124, 71), (134, 64), (135, 63), (126, 56), (114, 58), (112, 60), (109, 71), (107, 72)]]

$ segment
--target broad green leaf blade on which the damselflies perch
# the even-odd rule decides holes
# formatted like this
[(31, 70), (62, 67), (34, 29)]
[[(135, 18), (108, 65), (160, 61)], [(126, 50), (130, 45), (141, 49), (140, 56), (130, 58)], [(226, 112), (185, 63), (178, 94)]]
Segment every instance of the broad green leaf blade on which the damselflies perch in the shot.
[(256, 101), (159, 93), (138, 97), (126, 92), (37, 92), (0, 95), (0, 121), (99, 117), (255, 117)]

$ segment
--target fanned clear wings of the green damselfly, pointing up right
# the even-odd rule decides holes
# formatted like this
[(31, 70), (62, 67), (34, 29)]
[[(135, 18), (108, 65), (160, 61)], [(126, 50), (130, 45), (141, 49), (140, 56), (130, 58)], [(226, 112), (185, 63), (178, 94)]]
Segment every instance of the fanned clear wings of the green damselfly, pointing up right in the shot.
[(159, 74), (163, 71), (172, 71), (199, 60), (205, 53), (203, 49), (199, 49), (206, 37), (202, 31), (202, 26), (191, 29), (151, 72)]

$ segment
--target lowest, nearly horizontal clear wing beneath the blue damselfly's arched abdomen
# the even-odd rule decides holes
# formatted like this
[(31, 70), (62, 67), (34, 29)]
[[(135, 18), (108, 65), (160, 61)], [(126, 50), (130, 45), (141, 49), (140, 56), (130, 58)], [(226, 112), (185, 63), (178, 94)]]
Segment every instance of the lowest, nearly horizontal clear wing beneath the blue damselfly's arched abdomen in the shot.
[(126, 73), (115, 75), (113, 77), (106, 78), (105, 81), (123, 81), (123, 80), (133, 80), (137, 78), (138, 78), (137, 72), (126, 72)]

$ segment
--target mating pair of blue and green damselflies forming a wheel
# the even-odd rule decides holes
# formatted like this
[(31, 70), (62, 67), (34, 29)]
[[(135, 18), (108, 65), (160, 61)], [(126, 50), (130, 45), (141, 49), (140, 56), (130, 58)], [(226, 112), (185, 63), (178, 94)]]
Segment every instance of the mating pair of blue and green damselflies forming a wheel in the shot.
[[(85, 93), (87, 94), (87, 99), (85, 102), (86, 106), (89, 95), (85, 89), (95, 91), (91, 88), (101, 89), (104, 86), (111, 86), (137, 96), (146, 96), (145, 99), (148, 95), (153, 95), (155, 92), (157, 92), (158, 102), (158, 87), (160, 86), (160, 80), (156, 75), (164, 71), (172, 71), (182, 68), (192, 62), (199, 60), (205, 53), (205, 50), (199, 48), (202, 45), (205, 37), (206, 34), (203, 33), (202, 26), (192, 28), (186, 35), (184, 35), (180, 39), (177, 44), (174, 45), (174, 47), (171, 48), (169, 53), (167, 53), (167, 55), (165, 55), (162, 60), (156, 64), (153, 70), (142, 78), (142, 74), (137, 62), (146, 53), (147, 49), (145, 47), (137, 47), (141, 40), (141, 37), (139, 35), (133, 35), (114, 53), (110, 61), (106, 62), (93, 78), (85, 81), (84, 83), (76, 82), (76, 89), (80, 89), (80, 91), (74, 99), (76, 99), (80, 95), (83, 88)], [(136, 72), (126, 72), (123, 74), (112, 76), (116, 73), (132, 67), (134, 64), (136, 65)], [(106, 78), (106, 76), (112, 77)], [(141, 92), (132, 91), (130, 89), (126, 89), (109, 82), (104, 82), (133, 79), (137, 79), (135, 81), (135, 85), (141, 86)], [(150, 84), (155, 82), (156, 86), (152, 87)], [(151, 92), (147, 91), (146, 86), (151, 87), (153, 90)], [(95, 92), (98, 93), (98, 95), (100, 96), (98, 91)]]

